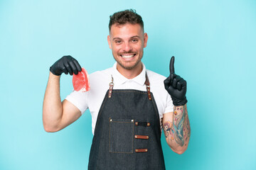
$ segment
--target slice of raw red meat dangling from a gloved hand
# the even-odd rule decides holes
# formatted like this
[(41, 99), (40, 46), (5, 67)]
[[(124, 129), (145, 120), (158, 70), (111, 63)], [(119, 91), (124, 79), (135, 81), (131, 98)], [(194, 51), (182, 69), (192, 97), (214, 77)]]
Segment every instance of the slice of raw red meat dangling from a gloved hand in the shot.
[(75, 91), (90, 91), (89, 77), (85, 68), (82, 68), (77, 75), (73, 74), (73, 87)]

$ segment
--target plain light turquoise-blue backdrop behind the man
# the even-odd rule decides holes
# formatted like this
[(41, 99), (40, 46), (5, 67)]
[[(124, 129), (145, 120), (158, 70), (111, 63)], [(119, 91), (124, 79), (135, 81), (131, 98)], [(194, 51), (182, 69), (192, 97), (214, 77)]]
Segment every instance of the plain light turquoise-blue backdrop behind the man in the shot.
[[(87, 111), (64, 130), (43, 130), (49, 67), (72, 55), (89, 73), (112, 67), (109, 16), (135, 8), (149, 35), (143, 62), (188, 81), (191, 140), (184, 154), (162, 145), (166, 169), (256, 169), (256, 1), (0, 0), (0, 169), (87, 169)], [(73, 90), (63, 75), (61, 98)]]

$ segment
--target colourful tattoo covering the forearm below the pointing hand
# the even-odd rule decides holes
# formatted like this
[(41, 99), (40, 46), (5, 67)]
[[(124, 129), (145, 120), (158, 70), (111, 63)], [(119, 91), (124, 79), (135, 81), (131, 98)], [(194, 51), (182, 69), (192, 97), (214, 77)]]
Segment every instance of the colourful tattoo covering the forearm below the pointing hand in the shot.
[(165, 137), (168, 138), (169, 142), (176, 142), (179, 146), (183, 147), (188, 145), (190, 133), (186, 106), (174, 106), (173, 122), (170, 120), (164, 122)]

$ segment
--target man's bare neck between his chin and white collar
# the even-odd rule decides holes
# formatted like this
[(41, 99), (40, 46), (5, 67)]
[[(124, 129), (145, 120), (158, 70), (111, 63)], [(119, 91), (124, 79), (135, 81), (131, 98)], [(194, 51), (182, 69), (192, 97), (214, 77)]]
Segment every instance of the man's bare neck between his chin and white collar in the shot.
[(133, 79), (134, 77), (137, 77), (142, 72), (142, 62), (137, 64), (136, 67), (133, 69), (124, 69), (117, 63), (117, 70), (120, 74), (122, 74), (127, 79)]

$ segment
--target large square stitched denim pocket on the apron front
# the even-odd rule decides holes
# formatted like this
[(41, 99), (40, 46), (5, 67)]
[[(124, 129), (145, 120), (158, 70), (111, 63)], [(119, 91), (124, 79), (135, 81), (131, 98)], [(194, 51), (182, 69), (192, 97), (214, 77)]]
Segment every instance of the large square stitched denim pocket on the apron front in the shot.
[(110, 152), (133, 153), (134, 120), (110, 118)]

